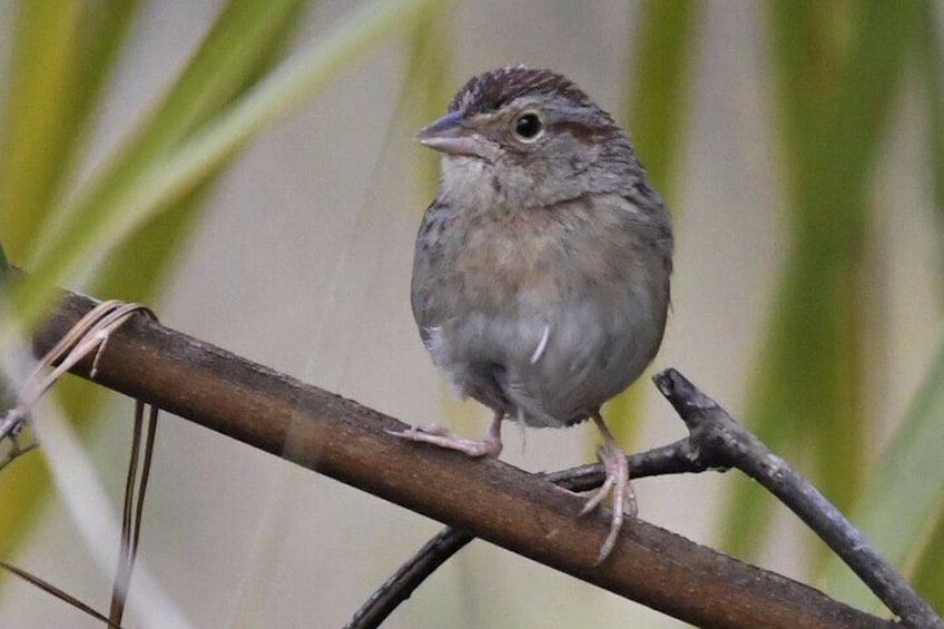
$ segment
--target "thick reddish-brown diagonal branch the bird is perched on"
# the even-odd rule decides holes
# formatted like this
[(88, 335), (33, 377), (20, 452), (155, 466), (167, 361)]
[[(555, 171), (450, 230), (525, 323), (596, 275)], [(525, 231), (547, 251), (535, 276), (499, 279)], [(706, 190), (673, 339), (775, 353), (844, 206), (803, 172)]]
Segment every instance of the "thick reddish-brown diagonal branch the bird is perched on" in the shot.
[[(68, 295), (36, 351), (92, 306)], [(608, 519), (578, 519), (581, 498), (501, 461), (391, 438), (406, 426), (144, 318), (114, 334), (97, 366), (110, 389), (700, 627), (894, 627), (641, 520), (594, 568)]]

